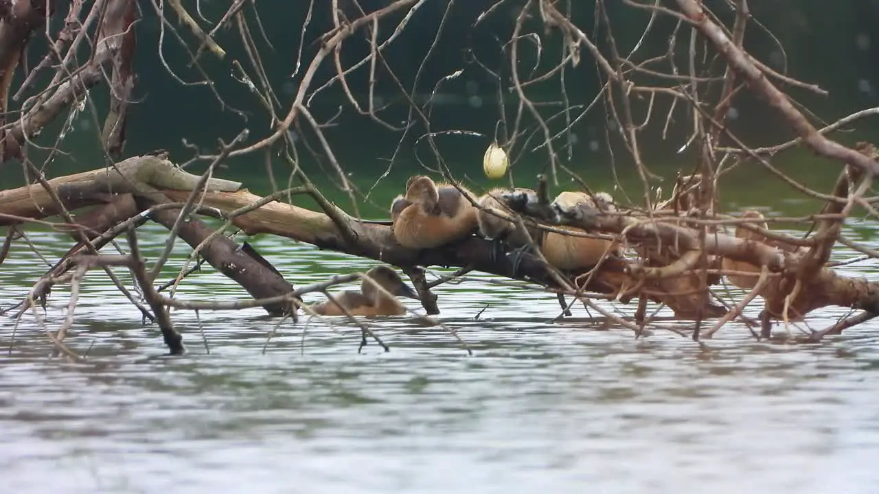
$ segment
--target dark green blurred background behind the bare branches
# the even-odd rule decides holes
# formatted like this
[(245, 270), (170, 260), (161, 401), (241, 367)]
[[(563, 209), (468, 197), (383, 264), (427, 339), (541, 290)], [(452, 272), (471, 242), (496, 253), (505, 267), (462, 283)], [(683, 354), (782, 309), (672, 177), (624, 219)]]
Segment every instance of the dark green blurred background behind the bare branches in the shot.
[[(603, 29), (594, 34), (594, 2), (586, 0), (574, 0), (574, 19), (592, 39), (598, 40), (605, 54), (608, 54), (606, 31)], [(215, 22), (218, 20), (230, 2), (204, 4), (202, 12)], [(265, 27), (265, 33), (272, 42), (268, 47), (265, 40), (258, 33), (258, 25), (251, 9), (247, 10), (247, 18), (251, 26), (251, 32), (257, 38), (258, 47), (265, 69), (272, 79), (272, 84), (281, 99), (280, 113), (285, 114), (289, 102), (294, 96), (297, 84), (301, 81), (301, 75), (308, 64), (311, 55), (318, 47), (314, 42), (320, 33), (324, 33), (331, 27), (329, 1), (317, 1), (316, 11), (305, 34), (305, 47), (303, 53), (303, 67), (296, 76), (291, 77), (296, 61), (297, 51), (301, 36), (301, 25), (305, 19), (309, 2), (305, 0), (295, 1), (263, 1), (257, 2), (259, 17)], [(356, 10), (350, 2), (341, 2), (345, 13), (356, 17)], [(388, 4), (387, 0), (362, 0), (361, 5), (367, 11), (374, 11)], [(506, 62), (505, 54), (500, 50), (503, 40), (509, 40), (514, 25), (514, 13), (519, 11), (523, 2), (508, 2), (505, 8), (485, 19), (476, 29), (471, 26), (476, 17), (494, 2), (489, 0), (457, 0), (453, 4), (452, 13), (447, 19), (444, 31), (439, 38), (439, 43), (431, 57), (425, 63), (421, 81), (418, 84), (417, 93), (429, 94), (438, 81), (455, 70), (461, 69), (461, 76), (452, 81), (447, 81), (440, 86), (439, 92), (444, 98), (442, 103), (432, 107), (432, 130), (465, 130), (484, 134), (485, 137), (467, 135), (445, 135), (437, 138), (442, 156), (452, 167), (454, 174), (476, 182), (476, 187), (487, 185), (481, 171), (482, 154), (485, 147), (490, 143), (490, 136), (494, 134), (495, 127), (500, 115), (498, 105), (498, 87), (493, 79), (478, 64), (471, 62), (473, 55), (478, 57), (492, 70), (503, 68), (504, 76), (509, 76), (509, 63)], [(613, 34), (621, 51), (628, 52), (640, 38), (643, 27), (649, 19), (649, 13), (627, 7), (619, 2), (608, 2), (610, 14), (613, 19)], [(672, 6), (672, 2), (664, 4)], [(732, 14), (725, 8), (722, 2), (706, 1), (723, 17), (730, 21)], [(750, 2), (754, 17), (759, 20), (757, 24), (750, 24), (746, 36), (746, 47), (761, 60), (769, 63), (775, 69), (783, 69), (781, 61), (787, 60), (787, 71), (790, 75), (812, 84), (818, 84), (830, 91), (829, 97), (820, 97), (808, 91), (792, 89), (789, 92), (796, 101), (810, 107), (814, 113), (827, 122), (831, 122), (847, 113), (852, 113), (868, 106), (879, 104), (879, 1), (875, 0), (847, 0), (839, 2), (826, 2), (823, 0), (764, 0)], [(193, 16), (198, 16), (194, 2), (185, 2)], [(168, 71), (163, 68), (159, 58), (159, 20), (156, 17), (151, 3), (141, 2), (143, 17), (137, 25), (138, 47), (135, 60), (137, 72), (137, 85), (134, 98), (138, 103), (133, 106), (127, 127), (126, 156), (141, 154), (153, 149), (169, 149), (171, 158), (178, 162), (185, 162), (193, 155), (191, 149), (187, 149), (183, 142), (199, 146), (205, 151), (216, 149), (217, 138), (231, 140), (243, 127), (251, 130), (251, 142), (265, 137), (271, 132), (269, 119), (265, 111), (258, 104), (256, 98), (243, 85), (231, 77), (231, 62), (238, 60), (244, 68), (253, 74), (250, 62), (247, 61), (241, 50), (241, 42), (236, 28), (231, 28), (220, 33), (216, 40), (224, 47), (228, 56), (225, 60), (217, 60), (211, 54), (202, 54), (200, 60), (207, 74), (214, 80), (214, 87), (222, 100), (231, 106), (247, 113), (247, 120), (236, 113), (224, 110), (217, 98), (205, 85), (179, 84)], [(410, 20), (406, 31), (385, 52), (385, 56), (399, 77), (404, 87), (410, 89), (414, 75), (419, 64), (425, 60), (432, 43), (434, 34), (438, 30), (440, 18), (447, 7), (443, 0), (433, 0)], [(55, 14), (54, 24), (62, 21), (66, 11), (58, 11)], [(170, 9), (167, 11), (168, 18), (173, 25), (178, 25), (176, 16)], [(380, 37), (389, 36), (402, 16), (397, 15), (386, 19), (381, 24)], [(202, 23), (203, 26), (210, 26)], [(672, 33), (674, 22), (670, 18), (660, 16), (653, 32), (645, 40), (637, 60), (643, 60), (649, 56), (665, 53), (668, 46), (668, 37)], [(179, 32), (190, 47), (197, 46), (190, 33), (184, 28)], [(773, 33), (773, 35), (768, 34)], [(562, 39), (557, 32), (545, 35), (536, 18), (527, 23), (527, 33), (539, 33), (541, 35), (541, 64), (536, 70), (537, 74), (550, 69), (560, 57)], [(689, 29), (681, 30), (678, 36), (678, 46), (681, 54), (686, 51), (689, 40)], [(774, 36), (774, 37), (773, 37)], [(351, 40), (345, 42), (343, 62), (349, 66), (352, 62), (360, 60), (368, 54), (368, 45), (363, 40), (363, 33), (358, 33)], [(784, 47), (784, 56), (779, 51), (776, 41)], [(33, 67), (45, 53), (45, 41), (37, 36), (28, 51), (30, 66)], [(529, 70), (536, 61), (535, 45), (529, 40), (519, 43), (520, 74), (528, 78)], [(194, 83), (202, 80), (202, 76), (195, 69), (187, 68), (189, 55), (180, 48), (178, 40), (166, 31), (162, 47), (164, 59), (174, 72), (186, 82)], [(83, 57), (84, 60), (84, 57)], [(681, 69), (686, 69), (686, 56), (679, 57)], [(715, 72), (722, 69), (722, 65), (715, 64)], [(316, 83), (312, 87), (323, 84), (334, 73), (331, 60), (323, 63), (318, 72)], [(20, 75), (19, 75), (20, 78)], [(367, 92), (367, 70), (360, 69), (349, 78), (352, 91), (359, 97), (361, 104), (366, 105), (364, 95)], [(642, 81), (650, 82), (641, 76)], [(469, 84), (469, 89), (468, 89)], [(599, 79), (592, 59), (585, 51), (582, 61), (577, 68), (570, 66), (565, 74), (565, 87), (570, 105), (583, 105), (595, 97), (599, 89)], [(789, 88), (788, 88), (789, 89)], [(381, 113), (384, 120), (399, 124), (406, 119), (407, 105), (401, 92), (396, 88), (396, 83), (388, 72), (382, 69), (376, 81), (375, 91), (384, 100), (395, 102), (388, 110)], [(62, 149), (70, 153), (70, 156), (59, 156), (47, 167), (50, 177), (63, 175), (72, 171), (81, 171), (100, 166), (103, 162), (99, 147), (99, 128), (105, 114), (106, 86), (98, 85), (91, 91), (94, 98), (94, 108), (98, 115), (89, 111), (81, 114), (74, 120), (74, 129), (66, 135), (62, 143)], [(471, 94), (473, 93), (473, 94)], [(514, 102), (515, 94), (505, 91), (505, 100)], [(535, 85), (528, 91), (529, 97), (537, 102), (560, 101), (560, 83), (558, 78), (553, 78), (545, 84)], [(482, 98), (481, 107), (473, 107), (468, 104), (468, 98), (476, 95)], [(13, 106), (18, 103), (13, 102)], [(669, 108), (669, 101), (663, 100), (657, 103), (654, 112), (653, 123), (650, 129), (642, 134), (642, 144), (645, 162), (652, 171), (663, 175), (665, 178), (673, 178), (679, 169), (689, 171), (692, 169), (693, 154), (689, 151), (676, 154), (685, 140), (686, 132), (692, 128), (692, 122), (687, 114), (680, 110), (675, 113), (672, 132), (667, 139), (663, 140), (661, 130), (665, 121), (665, 113)], [(642, 102), (636, 102), (636, 111), (640, 116), (645, 106)], [(760, 105), (747, 94), (737, 98), (735, 107), (739, 118), (731, 122), (731, 127), (745, 142), (753, 146), (772, 144), (791, 137), (791, 133), (783, 125), (781, 120), (770, 110)], [(415, 127), (410, 132), (410, 138), (403, 142), (403, 147), (397, 154), (393, 163), (389, 158), (393, 156), (399, 142), (400, 134), (390, 132), (388, 129), (374, 123), (373, 120), (359, 115), (350, 104), (338, 84), (315, 98), (312, 112), (319, 120), (329, 120), (338, 115), (334, 120), (334, 126), (325, 129), (325, 134), (330, 140), (338, 160), (350, 173), (350, 178), (365, 192), (381, 177), (381, 174), (390, 166), (390, 175), (376, 187), (371, 196), (379, 207), (384, 207), (387, 201), (396, 193), (401, 192), (405, 178), (415, 172), (423, 171), (416, 161), (413, 148), (414, 138), (424, 133), (424, 127)], [(555, 107), (549, 107), (555, 108)], [(546, 110), (545, 114), (554, 113), (556, 110)], [(514, 105), (507, 106), (508, 116), (512, 116)], [(561, 152), (563, 162), (570, 166), (578, 174), (585, 177), (590, 183), (597, 184), (597, 188), (610, 190), (613, 188), (611, 170), (615, 164), (616, 171), (621, 182), (626, 185), (626, 190), (633, 199), (640, 194), (640, 186), (632, 166), (632, 161), (625, 152), (618, 139), (612, 142), (614, 146), (614, 160), (607, 152), (605, 142), (606, 114), (603, 105), (595, 106), (586, 118), (578, 122), (572, 132), (577, 135), (577, 142), (570, 143), (561, 140), (556, 143), (561, 149), (565, 144), (571, 144), (570, 158), (567, 150)], [(851, 144), (861, 139), (879, 141), (875, 138), (876, 120), (862, 120), (852, 132), (834, 134), (836, 139), (846, 144)], [(528, 129), (534, 130), (534, 120), (525, 120)], [(57, 132), (58, 122), (54, 129), (49, 129), (41, 136), (41, 143), (47, 144), (47, 136), (53, 136)], [(556, 120), (554, 128), (561, 128), (562, 121)], [(52, 132), (54, 130), (54, 132)], [(313, 134), (306, 133), (306, 138), (313, 146), (317, 146)], [(599, 143), (599, 150), (592, 151), (589, 143)], [(32, 149), (32, 156), (38, 159), (44, 155)], [(325, 159), (316, 160), (309, 155), (308, 151), (301, 149), (302, 163), (309, 174), (316, 181), (327, 187), (325, 192), (332, 198), (339, 200), (343, 207), (348, 207), (345, 196), (334, 192), (335, 181), (331, 179), (332, 172)], [(423, 142), (418, 147), (418, 156), (425, 158), (426, 162), (433, 164), (430, 150)], [(519, 154), (512, 156), (515, 160), (513, 171), (517, 184), (533, 185), (534, 174), (542, 171), (548, 163), (545, 152)], [(810, 185), (824, 185), (829, 187), (839, 170), (835, 163), (825, 163), (811, 157), (803, 151), (786, 153), (776, 157), (776, 162), (790, 171), (798, 178), (802, 178)], [(275, 158), (272, 162), (274, 171), (278, 174), (281, 183), (286, 183), (288, 171), (287, 164)], [(229, 161), (228, 168), (222, 171), (222, 176), (227, 178), (241, 179), (254, 192), (265, 193), (268, 190), (265, 180), (265, 154), (257, 153), (251, 156)], [(204, 163), (193, 165), (193, 171), (203, 170)], [(763, 177), (764, 173), (758, 171), (757, 165), (748, 164), (738, 173), (734, 173), (724, 183), (729, 194), (736, 195), (741, 201), (759, 203), (761, 200), (772, 202), (786, 193), (795, 197), (786, 185), (781, 185), (774, 178), (755, 179)], [(20, 167), (17, 163), (5, 163), (0, 170), (0, 180), (6, 186), (19, 185), (21, 178)], [(338, 180), (337, 180), (338, 181)], [(469, 183), (474, 184), (473, 181)], [(666, 184), (668, 180), (665, 181)], [(564, 182), (566, 184), (568, 182)], [(664, 185), (664, 188), (671, 185)], [(378, 207), (367, 207), (364, 210), (367, 215), (381, 215)]]

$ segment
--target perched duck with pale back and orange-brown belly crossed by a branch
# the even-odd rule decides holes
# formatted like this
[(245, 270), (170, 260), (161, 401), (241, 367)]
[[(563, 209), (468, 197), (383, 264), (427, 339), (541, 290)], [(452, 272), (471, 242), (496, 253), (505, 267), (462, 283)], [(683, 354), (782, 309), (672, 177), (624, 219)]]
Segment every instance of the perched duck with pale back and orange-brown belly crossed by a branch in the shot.
[[(608, 193), (597, 193), (592, 200), (586, 193), (563, 192), (558, 194), (553, 203), (563, 208), (576, 207), (580, 204), (588, 204), (604, 211), (614, 211), (614, 199)], [(584, 233), (584, 229), (576, 227), (558, 227), (571, 232)], [(619, 243), (600, 238), (584, 236), (568, 236), (556, 232), (547, 232), (541, 243), (541, 251), (549, 264), (563, 271), (574, 271), (596, 265), (605, 253), (612, 256), (621, 256), (622, 248)]]

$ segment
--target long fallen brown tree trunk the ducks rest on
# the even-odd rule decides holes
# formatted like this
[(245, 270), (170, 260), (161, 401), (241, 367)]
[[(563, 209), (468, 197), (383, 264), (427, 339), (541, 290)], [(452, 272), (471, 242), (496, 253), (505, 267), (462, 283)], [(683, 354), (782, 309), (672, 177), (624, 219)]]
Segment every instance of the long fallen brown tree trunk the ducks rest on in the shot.
[[(106, 194), (111, 194), (109, 197), (113, 198), (109, 204), (116, 204), (121, 201), (118, 199), (120, 197), (118, 193), (133, 193), (135, 200), (142, 204), (142, 207), (135, 209), (156, 205), (159, 209), (154, 209), (150, 217), (171, 228), (177, 221), (180, 211), (179, 207), (174, 205), (189, 200), (193, 186), (199, 183), (199, 179), (179, 170), (163, 158), (134, 156), (117, 163), (114, 168), (54, 178), (49, 180), (48, 184), (65, 204), (76, 207), (106, 205), (108, 204)], [(330, 214), (311, 211), (278, 202), (272, 197), (261, 198), (242, 189), (239, 183), (222, 179), (211, 178), (204, 185), (205, 190), (198, 194), (200, 212), (210, 213), (205, 208), (215, 208), (214, 215), (228, 220), (248, 235), (268, 233), (286, 236), (322, 249), (374, 258), (403, 268), (417, 265), (458, 266), (506, 278), (527, 280), (556, 290), (562, 288), (557, 285), (552, 268), (543, 264), (538, 258), (526, 254), (517, 265), (510, 258), (496, 256), (496, 246), (480, 237), (472, 236), (459, 243), (437, 249), (412, 250), (396, 242), (388, 225), (362, 222), (338, 209), (328, 211)], [(870, 312), (879, 310), (879, 285), (875, 283), (842, 277), (826, 268), (819, 270), (818, 274), (810, 280), (796, 278), (796, 273), (805, 262), (802, 251), (784, 251), (765, 243), (755, 243), (719, 233), (707, 236), (704, 243), (700, 243), (698, 231), (680, 226), (686, 224), (683, 221), (679, 221), (680, 224), (672, 224), (672, 222), (650, 221), (637, 214), (596, 214), (595, 210), (585, 206), (562, 211), (553, 209), (552, 205), (541, 204), (527, 193), (510, 193), (507, 199), (520, 212), (532, 215), (543, 222), (614, 233), (621, 236), (630, 246), (674, 245), (681, 254), (669, 265), (649, 267), (623, 258), (607, 258), (592, 272), (592, 275), (586, 277), (587, 285), (578, 287), (578, 292), (575, 293), (578, 296), (605, 294), (605, 298), (613, 298), (624, 303), (634, 298), (645, 297), (668, 303), (679, 313), (679, 316), (683, 315), (686, 318), (686, 311), (694, 309), (692, 300), (686, 299), (687, 294), (670, 293), (669, 287), (674, 285), (662, 282), (674, 277), (692, 275), (697, 256), (683, 254), (687, 251), (704, 249), (712, 256), (723, 256), (752, 265), (766, 266), (775, 278), (793, 280), (795, 285), (798, 284), (798, 291), (792, 297), (788, 295), (795, 291), (794, 287), (790, 283), (783, 282), (776, 285), (786, 290), (785, 293), (764, 294), (767, 309), (776, 318), (786, 317), (785, 314), (788, 313), (804, 315), (810, 310), (826, 305), (865, 309)], [(60, 208), (52, 200), (52, 194), (47, 193), (42, 185), (29, 185), (0, 193), (0, 218), (4, 218), (6, 224), (22, 222), (27, 218), (46, 217), (56, 214)], [(129, 209), (125, 214), (115, 212), (105, 220), (109, 221), (110, 217), (118, 220), (133, 211)], [(133, 216), (134, 214), (129, 218)], [(68, 228), (76, 227), (69, 225)], [(187, 243), (193, 245), (193, 248), (208, 236), (214, 235), (200, 222), (193, 222), (190, 229), (181, 229), (178, 233)], [(201, 250), (202, 255), (206, 256), (211, 265), (241, 283), (257, 298), (292, 290), (292, 286), (280, 278), (277, 272), (273, 272), (274, 277), (268, 274), (273, 271), (270, 266), (246, 254), (243, 258), (239, 257), (241, 251), (233, 248), (234, 243), (228, 239), (226, 239), (228, 242), (220, 241), (221, 238), (224, 237), (214, 236), (211, 243), (208, 243), (209, 247)], [(214, 244), (214, 242), (220, 243)], [(241, 276), (240, 272), (229, 271), (229, 265), (236, 262), (247, 263), (248, 261), (243, 260), (246, 258), (251, 258), (255, 263), (250, 265), (254, 272), (261, 274), (250, 278)], [(257, 265), (259, 267), (256, 267)], [(713, 273), (716, 274), (716, 269)], [(575, 280), (583, 273), (566, 274), (570, 275), (570, 280)], [(715, 276), (714, 279), (716, 278)], [(685, 301), (690, 306), (685, 307)], [(290, 308), (266, 309), (272, 313), (279, 313), (286, 312)], [(723, 313), (703, 314), (698, 307), (695, 309), (697, 309), (696, 314), (691, 318), (725, 314), (725, 310)]]

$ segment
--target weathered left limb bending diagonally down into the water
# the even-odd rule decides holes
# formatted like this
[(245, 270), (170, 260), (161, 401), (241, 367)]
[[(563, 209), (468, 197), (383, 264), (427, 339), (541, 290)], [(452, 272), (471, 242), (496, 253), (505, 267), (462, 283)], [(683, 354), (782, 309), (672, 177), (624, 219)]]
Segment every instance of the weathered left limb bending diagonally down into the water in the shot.
[[(82, 230), (90, 240), (100, 238), (99, 248), (124, 231), (115, 229), (107, 235), (105, 232), (108, 230), (123, 223), (136, 226), (146, 221), (148, 217), (142, 216), (141, 212), (149, 209), (149, 205), (155, 204), (156, 200), (167, 205), (167, 201), (156, 192), (153, 185), (192, 187), (197, 181), (198, 177), (180, 171), (161, 158), (137, 156), (118, 163), (114, 168), (87, 171), (49, 180), (47, 183), (52, 193), (42, 185), (29, 185), (0, 192), (0, 205), (2, 205), (0, 218), (6, 224), (11, 224), (20, 222), (21, 218), (27, 216), (46, 217), (59, 214), (62, 208), (67, 210), (96, 205), (97, 207), (88, 213), (75, 217), (75, 224), (68, 224), (65, 227), (72, 232), (71, 236), (75, 239), (78, 238), (76, 232), (79, 230)], [(214, 179), (209, 180), (207, 186), (236, 189), (240, 184)], [(138, 196), (139, 199), (135, 199), (131, 193), (124, 192), (128, 190), (140, 191), (142, 195)], [(59, 201), (54, 200), (53, 193), (60, 199), (60, 204)], [(139, 205), (138, 202), (141, 204)], [(149, 218), (171, 229), (180, 212), (179, 207), (152, 209)], [(190, 217), (188, 222), (182, 222), (178, 231), (178, 235), (193, 249), (201, 243), (206, 243), (200, 252), (207, 262), (230, 279), (236, 280), (255, 298), (270, 298), (294, 290), (293, 285), (284, 280), (280, 272), (266, 265), (255, 251), (240, 249), (232, 239), (213, 234), (213, 229), (194, 217)], [(62, 261), (83, 251), (84, 247), (84, 243), (76, 243)], [(33, 293), (33, 298), (40, 299), (49, 294), (52, 283), (48, 280), (60, 276), (69, 268), (69, 265), (62, 261), (42, 277), (43, 282), (38, 283), (40, 290)], [(293, 316), (295, 321), (297, 317), (295, 306), (296, 303), (293, 301), (283, 301), (267, 303), (264, 309), (273, 316)], [(25, 304), (19, 314), (26, 309), (28, 305)], [(145, 313), (144, 316), (149, 314)], [(153, 316), (149, 318), (153, 319)]]

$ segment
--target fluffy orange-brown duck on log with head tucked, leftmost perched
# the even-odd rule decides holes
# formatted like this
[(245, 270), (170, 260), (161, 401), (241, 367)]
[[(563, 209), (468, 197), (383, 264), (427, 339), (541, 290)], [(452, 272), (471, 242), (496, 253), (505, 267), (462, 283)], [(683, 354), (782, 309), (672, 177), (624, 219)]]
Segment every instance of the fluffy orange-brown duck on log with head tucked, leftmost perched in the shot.
[[(469, 195), (469, 193), (464, 189)], [(476, 207), (448, 184), (435, 184), (424, 175), (406, 182), (406, 195), (390, 207), (396, 241), (410, 249), (432, 249), (476, 231)]]

